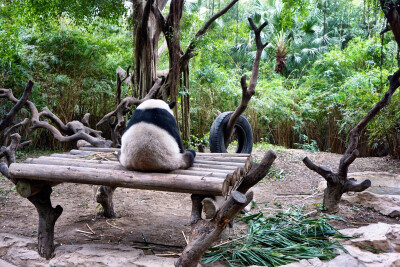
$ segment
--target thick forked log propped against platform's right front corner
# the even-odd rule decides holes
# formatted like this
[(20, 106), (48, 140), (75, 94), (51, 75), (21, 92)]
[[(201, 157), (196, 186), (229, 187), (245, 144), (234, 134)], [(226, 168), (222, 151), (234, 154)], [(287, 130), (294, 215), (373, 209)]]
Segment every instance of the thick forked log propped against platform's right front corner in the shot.
[(226, 225), (253, 199), (253, 192), (247, 191), (265, 177), (275, 158), (275, 153), (270, 150), (264, 155), (259, 165), (253, 164), (252, 170), (244, 177), (238, 190), (232, 192), (214, 216), (208, 214), (209, 217), (213, 217), (210, 221), (201, 218), (202, 201), (205, 196), (192, 195), (190, 217), (192, 234), (175, 266), (194, 267), (198, 265), (203, 254), (217, 240)]

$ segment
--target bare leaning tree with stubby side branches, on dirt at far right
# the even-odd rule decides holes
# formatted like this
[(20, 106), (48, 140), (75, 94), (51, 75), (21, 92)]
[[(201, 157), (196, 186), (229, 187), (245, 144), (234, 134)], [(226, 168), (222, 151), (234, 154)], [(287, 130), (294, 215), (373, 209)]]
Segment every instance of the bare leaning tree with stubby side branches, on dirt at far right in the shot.
[(393, 94), (400, 87), (400, 70), (396, 71), (394, 75), (389, 76), (390, 86), (386, 91), (383, 98), (365, 115), (360, 122), (349, 133), (349, 144), (346, 152), (340, 159), (339, 169), (337, 173), (332, 172), (329, 168), (318, 166), (314, 164), (308, 157), (303, 159), (304, 164), (310, 169), (324, 177), (327, 181), (327, 188), (324, 192), (323, 207), (328, 212), (336, 212), (339, 209), (339, 203), (342, 195), (346, 192), (362, 192), (371, 186), (370, 180), (365, 180), (357, 184), (353, 178), (348, 178), (347, 173), (350, 164), (357, 158), (359, 152), (358, 139), (361, 132), (365, 129), (367, 124), (389, 104)]

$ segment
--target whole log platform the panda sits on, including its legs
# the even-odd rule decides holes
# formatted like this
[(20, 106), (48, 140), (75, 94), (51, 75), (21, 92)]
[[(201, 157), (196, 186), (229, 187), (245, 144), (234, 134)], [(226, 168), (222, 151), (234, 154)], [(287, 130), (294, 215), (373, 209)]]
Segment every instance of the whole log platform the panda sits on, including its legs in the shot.
[[(28, 158), (9, 166), (9, 176), (16, 183), (18, 193), (28, 198), (39, 213), (38, 252), (42, 257), (51, 258), (54, 253), (54, 225), (62, 208), (52, 207), (50, 194), (51, 187), (57, 184), (101, 185), (100, 193), (107, 203), (101, 203), (99, 198), (98, 202), (105, 211), (113, 210), (112, 192), (116, 187), (189, 193), (193, 201), (192, 217), (195, 214), (198, 220), (199, 204), (198, 201), (194, 203), (194, 199), (198, 200), (198, 196), (200, 199), (205, 196), (227, 198), (251, 167), (249, 154), (197, 153), (194, 166), (187, 170), (144, 173), (122, 167), (117, 152), (116, 148), (82, 147), (68, 154)], [(107, 192), (111, 192), (111, 196)], [(236, 198), (240, 197), (243, 198), (238, 194)], [(240, 201), (244, 203), (246, 199)]]

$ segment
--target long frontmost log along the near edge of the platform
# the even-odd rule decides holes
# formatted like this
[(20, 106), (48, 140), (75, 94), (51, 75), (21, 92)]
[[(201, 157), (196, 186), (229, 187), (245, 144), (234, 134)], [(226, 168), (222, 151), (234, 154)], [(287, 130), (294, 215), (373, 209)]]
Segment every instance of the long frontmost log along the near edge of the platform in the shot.
[(227, 179), (168, 173), (95, 169), (86, 167), (13, 163), (9, 167), (12, 179), (43, 180), (80, 184), (106, 185), (145, 190), (160, 190), (204, 195), (226, 196)]

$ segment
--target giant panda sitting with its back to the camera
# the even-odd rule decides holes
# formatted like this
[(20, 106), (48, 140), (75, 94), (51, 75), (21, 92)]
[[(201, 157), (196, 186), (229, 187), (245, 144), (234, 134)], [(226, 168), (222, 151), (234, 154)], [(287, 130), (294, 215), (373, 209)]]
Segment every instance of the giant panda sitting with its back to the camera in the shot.
[(141, 103), (121, 138), (119, 161), (128, 170), (168, 172), (193, 166), (196, 152), (184, 151), (172, 113), (175, 102), (150, 99)]

